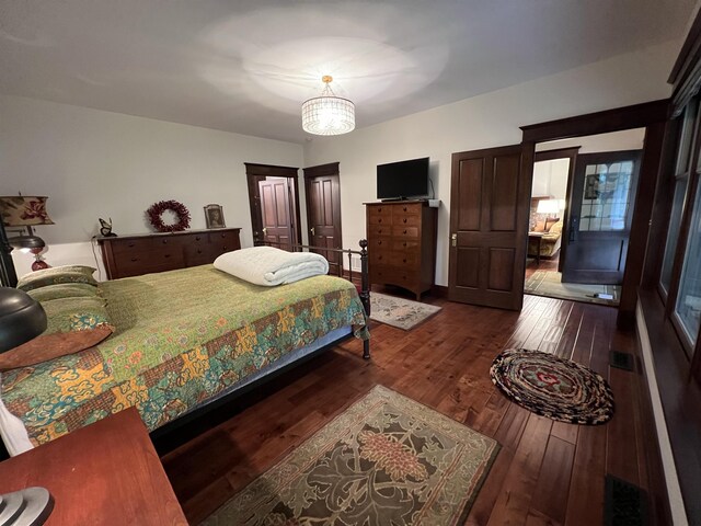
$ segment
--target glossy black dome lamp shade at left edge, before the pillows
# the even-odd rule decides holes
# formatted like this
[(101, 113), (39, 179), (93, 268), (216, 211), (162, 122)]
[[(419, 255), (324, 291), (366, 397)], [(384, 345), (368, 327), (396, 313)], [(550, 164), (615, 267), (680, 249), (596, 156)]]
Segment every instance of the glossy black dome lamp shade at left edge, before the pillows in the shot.
[(46, 330), (46, 312), (28, 294), (0, 287), (0, 353), (38, 336)]

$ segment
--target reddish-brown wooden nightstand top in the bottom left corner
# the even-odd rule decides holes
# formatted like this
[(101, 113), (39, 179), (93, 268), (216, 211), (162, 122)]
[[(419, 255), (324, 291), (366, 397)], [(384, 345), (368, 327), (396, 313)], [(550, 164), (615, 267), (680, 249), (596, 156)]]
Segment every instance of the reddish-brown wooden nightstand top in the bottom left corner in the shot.
[(0, 462), (0, 493), (54, 496), (46, 525), (186, 525), (148, 431), (129, 408)]

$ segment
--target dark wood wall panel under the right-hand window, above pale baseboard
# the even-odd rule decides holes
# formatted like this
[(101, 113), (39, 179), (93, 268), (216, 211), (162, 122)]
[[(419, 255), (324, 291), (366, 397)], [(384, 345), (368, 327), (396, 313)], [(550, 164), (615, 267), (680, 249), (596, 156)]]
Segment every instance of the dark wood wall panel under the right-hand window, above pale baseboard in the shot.
[(689, 524), (701, 524), (701, 387), (690, 381), (689, 359), (660, 298), (654, 290), (641, 290), (640, 301), (685, 508)]

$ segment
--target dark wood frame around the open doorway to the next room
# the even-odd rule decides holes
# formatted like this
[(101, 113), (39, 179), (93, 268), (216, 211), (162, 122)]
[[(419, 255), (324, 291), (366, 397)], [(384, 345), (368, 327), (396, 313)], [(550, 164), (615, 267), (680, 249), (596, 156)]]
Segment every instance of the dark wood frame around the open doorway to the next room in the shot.
[[(663, 142), (666, 123), (670, 116), (670, 100), (663, 99), (576, 117), (521, 126), (520, 128), (522, 132), (521, 147), (524, 149), (521, 176), (529, 185), (532, 185), (532, 161), (537, 142), (645, 128), (637, 195), (635, 196), (625, 272), (623, 273), (623, 285), (621, 287), (621, 300), (618, 308), (617, 323), (620, 328), (630, 329), (635, 321), (637, 286), (642, 278), (645, 248), (650, 233), (650, 218), (652, 217), (657, 175), (662, 168)], [(527, 242), (527, 238), (528, 232), (524, 232), (524, 242)]]

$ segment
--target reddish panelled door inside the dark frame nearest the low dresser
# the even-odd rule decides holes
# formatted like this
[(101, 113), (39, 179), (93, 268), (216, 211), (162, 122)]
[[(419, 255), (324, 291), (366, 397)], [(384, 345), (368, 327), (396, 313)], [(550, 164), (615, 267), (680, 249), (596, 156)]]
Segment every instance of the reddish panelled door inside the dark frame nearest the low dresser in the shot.
[(283, 250), (291, 250), (292, 221), (287, 179), (267, 178), (258, 181), (263, 239)]

